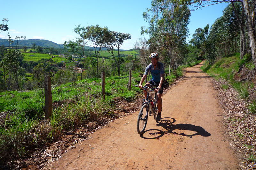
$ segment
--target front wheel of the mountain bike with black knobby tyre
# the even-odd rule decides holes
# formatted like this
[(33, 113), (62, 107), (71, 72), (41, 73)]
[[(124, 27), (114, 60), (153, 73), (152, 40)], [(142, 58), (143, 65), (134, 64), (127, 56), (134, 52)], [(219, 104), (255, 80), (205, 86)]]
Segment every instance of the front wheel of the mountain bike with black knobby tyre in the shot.
[(137, 121), (137, 131), (141, 135), (144, 133), (144, 130), (146, 129), (146, 125), (148, 122), (148, 106), (147, 104), (144, 104), (139, 112), (138, 121)]

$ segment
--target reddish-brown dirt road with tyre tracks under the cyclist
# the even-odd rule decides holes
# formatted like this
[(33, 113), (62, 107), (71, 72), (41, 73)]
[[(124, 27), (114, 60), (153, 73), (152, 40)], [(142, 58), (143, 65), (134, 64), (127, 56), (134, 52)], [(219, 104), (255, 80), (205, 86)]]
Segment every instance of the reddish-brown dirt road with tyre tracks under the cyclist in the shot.
[(199, 68), (163, 95), (159, 124), (148, 118), (136, 129), (138, 112), (109, 123), (55, 162), (55, 169), (238, 169), (211, 78)]

